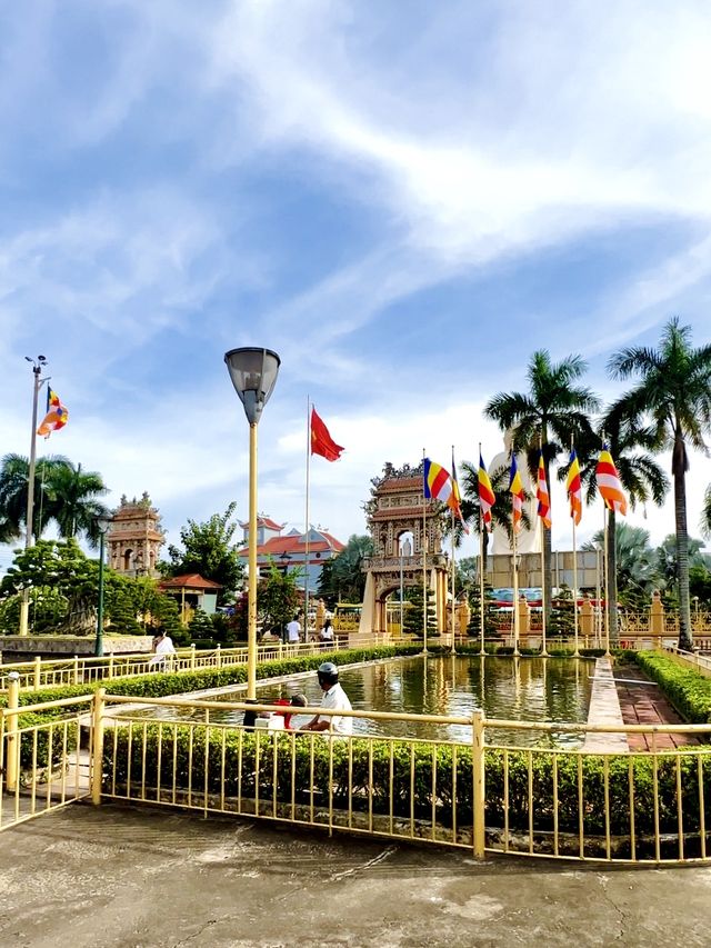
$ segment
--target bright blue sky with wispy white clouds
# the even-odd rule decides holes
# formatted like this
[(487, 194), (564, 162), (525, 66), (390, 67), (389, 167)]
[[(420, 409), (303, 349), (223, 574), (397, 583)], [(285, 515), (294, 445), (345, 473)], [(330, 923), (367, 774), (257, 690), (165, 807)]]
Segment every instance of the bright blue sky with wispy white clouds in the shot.
[[(259, 509), (303, 529), (311, 399), (346, 451), (312, 460), (310, 520), (346, 541), (385, 461), (502, 449), (482, 409), (534, 350), (580, 355), (609, 402), (611, 353), (671, 316), (709, 342), (711, 9), (600, 9), (2, 4), (0, 455), (29, 453), (41, 353), (70, 420), (39, 456), (112, 507), (148, 491), (169, 542), (231, 500), (246, 520), (223, 355), (271, 348)], [(692, 536), (710, 482), (692, 455)], [(552, 518), (570, 548), (558, 485)], [(629, 522), (661, 542), (671, 498)]]

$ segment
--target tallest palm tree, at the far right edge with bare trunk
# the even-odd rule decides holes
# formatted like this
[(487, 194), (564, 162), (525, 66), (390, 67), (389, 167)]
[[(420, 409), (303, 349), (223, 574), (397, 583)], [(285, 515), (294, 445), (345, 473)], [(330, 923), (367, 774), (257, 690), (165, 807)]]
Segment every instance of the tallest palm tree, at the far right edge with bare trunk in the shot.
[(612, 356), (613, 379), (638, 377), (639, 383), (615, 403), (632, 428), (649, 421), (655, 450), (671, 448), (674, 521), (679, 569), (679, 647), (690, 649), (689, 533), (687, 529), (687, 443), (707, 452), (704, 433), (711, 426), (711, 345), (694, 349), (691, 328), (679, 319), (665, 325), (658, 349), (630, 347)]

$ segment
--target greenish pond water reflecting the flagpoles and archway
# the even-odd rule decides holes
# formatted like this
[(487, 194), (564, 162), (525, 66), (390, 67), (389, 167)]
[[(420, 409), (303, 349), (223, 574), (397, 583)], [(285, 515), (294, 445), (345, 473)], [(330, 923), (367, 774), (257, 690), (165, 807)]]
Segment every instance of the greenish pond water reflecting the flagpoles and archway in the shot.
[[(430, 715), (471, 715), (483, 708), (488, 718), (524, 721), (587, 721), (594, 662), (575, 658), (495, 658), (493, 656), (421, 656), (395, 658), (341, 671), (340, 681), (354, 709), (403, 711)], [(257, 682), (257, 698), (264, 703), (289, 698), (302, 691), (309, 703), (321, 702), (316, 672), (294, 676), (281, 685)], [(214, 700), (239, 701), (243, 688), (216, 695)], [(141, 717), (170, 720), (202, 720), (203, 711), (186, 708), (150, 708)], [(131, 717), (134, 717), (132, 714)], [(214, 711), (211, 720), (241, 724), (242, 712)], [(293, 725), (308, 718), (294, 717)], [(471, 728), (458, 725), (431, 725), (405, 721), (354, 719), (356, 734), (408, 736), (471, 740)], [(542, 731), (507, 731), (487, 729), (490, 744), (548, 745), (579, 747), (582, 736), (575, 732), (548, 735)]]

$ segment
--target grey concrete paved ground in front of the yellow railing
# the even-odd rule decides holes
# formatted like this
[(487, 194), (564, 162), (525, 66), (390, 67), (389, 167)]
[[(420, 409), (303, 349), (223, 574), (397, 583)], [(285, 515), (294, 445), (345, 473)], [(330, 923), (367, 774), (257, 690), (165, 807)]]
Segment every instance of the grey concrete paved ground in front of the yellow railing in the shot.
[(0, 945), (705, 946), (711, 868), (600, 869), (73, 805), (2, 834)]

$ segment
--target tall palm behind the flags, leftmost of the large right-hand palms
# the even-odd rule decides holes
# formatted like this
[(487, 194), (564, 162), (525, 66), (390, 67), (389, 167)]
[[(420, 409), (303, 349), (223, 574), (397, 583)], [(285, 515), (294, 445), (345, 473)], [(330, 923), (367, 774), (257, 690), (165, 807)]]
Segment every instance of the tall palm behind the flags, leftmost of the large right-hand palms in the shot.
[[(578, 380), (587, 363), (580, 356), (568, 356), (551, 362), (550, 353), (539, 349), (528, 367), (529, 391), (500, 392), (484, 408), (484, 415), (499, 423), (502, 431), (511, 429), (513, 450), (525, 450), (531, 476), (535, 478), (539, 445), (543, 451), (545, 480), (550, 496), (551, 463), (567, 450), (571, 438), (579, 440), (592, 432), (590, 415), (600, 407), (598, 397)], [(543, 531), (545, 576), (543, 577), (547, 618), (550, 616), (553, 572), (551, 531)]]

